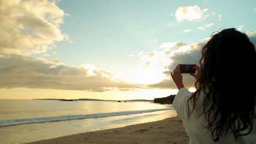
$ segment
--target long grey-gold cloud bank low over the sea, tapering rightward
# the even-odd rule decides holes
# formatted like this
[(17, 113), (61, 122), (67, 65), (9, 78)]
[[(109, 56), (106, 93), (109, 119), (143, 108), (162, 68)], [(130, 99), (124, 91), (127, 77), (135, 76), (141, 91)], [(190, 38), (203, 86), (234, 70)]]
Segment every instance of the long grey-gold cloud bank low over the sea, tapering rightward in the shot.
[(73, 67), (59, 59), (53, 62), (44, 58), (0, 53), (0, 88), (50, 88), (92, 92), (136, 91), (142, 85), (125, 82), (106, 70), (92, 64)]

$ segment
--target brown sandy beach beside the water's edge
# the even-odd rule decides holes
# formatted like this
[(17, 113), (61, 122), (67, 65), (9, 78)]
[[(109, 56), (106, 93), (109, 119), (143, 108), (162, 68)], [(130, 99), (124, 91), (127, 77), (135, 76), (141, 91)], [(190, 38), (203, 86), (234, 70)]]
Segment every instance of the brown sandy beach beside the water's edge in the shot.
[[(122, 128), (92, 131), (58, 137), (55, 139), (30, 142), (43, 143), (189, 143), (179, 117), (170, 117), (161, 121), (129, 125)], [(28, 144), (28, 143), (26, 143)]]

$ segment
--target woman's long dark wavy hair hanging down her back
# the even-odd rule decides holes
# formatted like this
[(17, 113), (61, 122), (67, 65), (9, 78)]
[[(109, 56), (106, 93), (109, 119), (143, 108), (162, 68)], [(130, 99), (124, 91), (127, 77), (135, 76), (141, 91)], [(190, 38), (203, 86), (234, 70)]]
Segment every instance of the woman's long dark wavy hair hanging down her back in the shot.
[[(202, 47), (199, 63), (201, 77), (187, 101), (189, 116), (203, 93), (206, 128), (215, 142), (228, 133), (235, 139), (251, 133), (256, 107), (256, 52), (247, 35), (235, 28), (213, 33)], [(243, 133), (245, 129), (248, 131)]]

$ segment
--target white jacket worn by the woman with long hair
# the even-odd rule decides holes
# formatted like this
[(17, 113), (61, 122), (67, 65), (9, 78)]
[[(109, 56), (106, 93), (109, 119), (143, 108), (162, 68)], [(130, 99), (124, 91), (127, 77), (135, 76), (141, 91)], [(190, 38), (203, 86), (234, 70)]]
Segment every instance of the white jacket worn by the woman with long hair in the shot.
[(192, 115), (188, 118), (188, 112), (186, 110), (187, 107), (187, 100), (189, 96), (191, 95), (191, 92), (188, 91), (187, 88), (183, 87), (179, 89), (178, 93), (176, 94), (176, 97), (173, 101), (173, 107), (176, 110), (179, 118), (182, 119), (183, 126), (185, 128), (186, 133), (190, 137), (189, 143), (256, 143), (256, 121), (254, 120), (254, 128), (252, 132), (249, 135), (246, 136), (240, 136), (235, 140), (235, 137), (233, 134), (227, 134), (222, 137), (220, 137), (218, 142), (214, 142), (212, 140), (212, 135), (210, 130), (206, 129), (207, 121), (205, 119), (205, 114), (203, 113), (203, 93), (200, 93), (199, 99), (196, 101), (195, 110), (193, 111)]

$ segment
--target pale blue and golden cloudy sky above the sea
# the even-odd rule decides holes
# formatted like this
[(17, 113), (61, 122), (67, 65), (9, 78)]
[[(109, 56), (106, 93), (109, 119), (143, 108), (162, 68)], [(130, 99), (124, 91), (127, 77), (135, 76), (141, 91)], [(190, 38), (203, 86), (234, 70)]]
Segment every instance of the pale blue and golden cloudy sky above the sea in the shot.
[(254, 0), (0, 0), (0, 99), (167, 97), (214, 32), (255, 45), (255, 20)]

